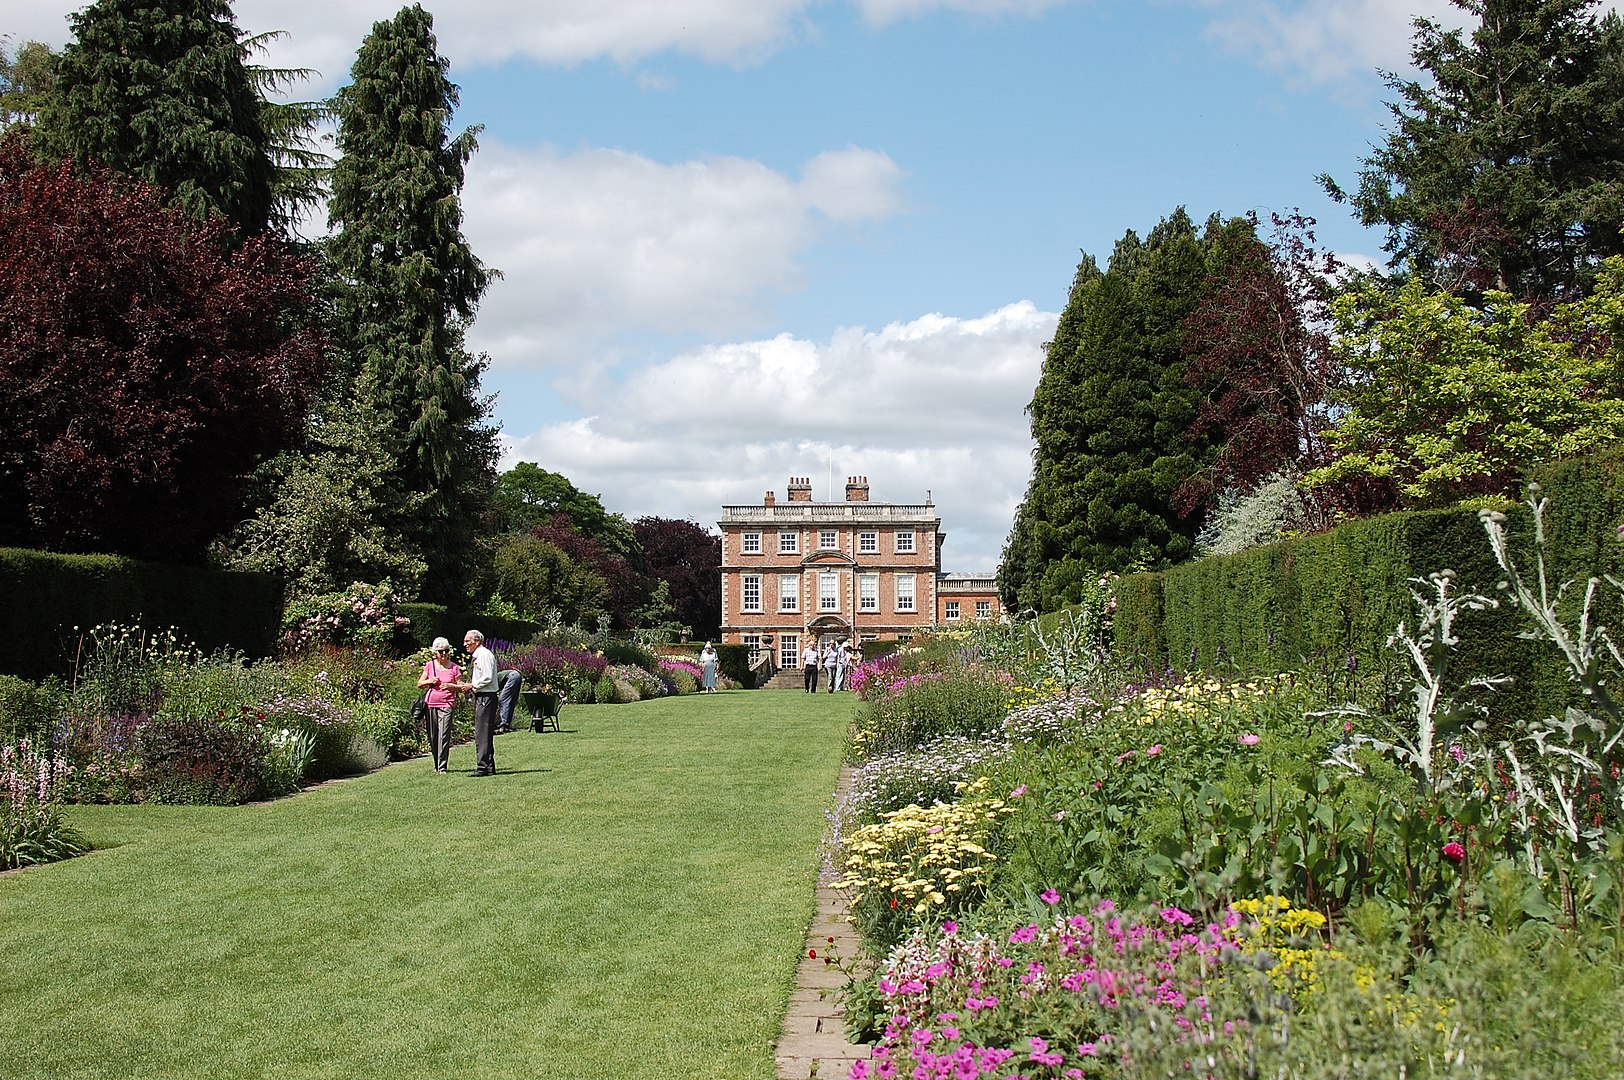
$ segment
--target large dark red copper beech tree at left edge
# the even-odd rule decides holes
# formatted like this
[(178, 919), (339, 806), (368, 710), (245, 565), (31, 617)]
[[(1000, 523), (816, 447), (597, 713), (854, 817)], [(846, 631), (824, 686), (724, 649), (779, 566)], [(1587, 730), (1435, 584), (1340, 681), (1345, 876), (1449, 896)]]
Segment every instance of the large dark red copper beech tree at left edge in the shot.
[(0, 544), (198, 560), (302, 430), (310, 268), (0, 140)]

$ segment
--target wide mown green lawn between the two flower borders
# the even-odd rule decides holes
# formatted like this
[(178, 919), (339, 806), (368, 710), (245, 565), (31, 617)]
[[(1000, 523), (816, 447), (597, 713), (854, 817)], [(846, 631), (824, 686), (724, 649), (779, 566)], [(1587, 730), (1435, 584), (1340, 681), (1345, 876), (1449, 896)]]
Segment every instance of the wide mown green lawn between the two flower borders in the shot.
[(568, 706), (0, 875), (0, 1077), (767, 1080), (849, 695)]

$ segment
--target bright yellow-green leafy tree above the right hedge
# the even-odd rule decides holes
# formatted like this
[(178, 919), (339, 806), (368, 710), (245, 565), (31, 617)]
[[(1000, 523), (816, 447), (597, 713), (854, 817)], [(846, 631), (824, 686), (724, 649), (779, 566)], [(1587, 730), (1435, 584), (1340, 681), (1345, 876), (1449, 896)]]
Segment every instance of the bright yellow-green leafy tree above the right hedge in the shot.
[(1376, 477), (1413, 507), (1509, 495), (1528, 466), (1624, 435), (1624, 258), (1546, 320), (1504, 292), (1473, 307), (1419, 279), (1397, 296), (1359, 289), (1335, 312), (1354, 377), (1327, 434), (1335, 458), (1309, 482)]

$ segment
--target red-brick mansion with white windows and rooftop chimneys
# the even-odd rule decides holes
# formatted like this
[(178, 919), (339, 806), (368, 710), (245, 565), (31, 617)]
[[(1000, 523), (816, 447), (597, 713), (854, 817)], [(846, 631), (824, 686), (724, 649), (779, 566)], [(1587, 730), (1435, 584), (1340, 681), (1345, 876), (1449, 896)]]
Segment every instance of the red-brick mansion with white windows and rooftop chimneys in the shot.
[(869, 500), (869, 477), (843, 502), (814, 502), (789, 477), (786, 500), (723, 507), (721, 640), (799, 667), (807, 642), (908, 640), (924, 629), (1002, 616), (991, 573), (942, 573), (942, 518), (922, 503)]

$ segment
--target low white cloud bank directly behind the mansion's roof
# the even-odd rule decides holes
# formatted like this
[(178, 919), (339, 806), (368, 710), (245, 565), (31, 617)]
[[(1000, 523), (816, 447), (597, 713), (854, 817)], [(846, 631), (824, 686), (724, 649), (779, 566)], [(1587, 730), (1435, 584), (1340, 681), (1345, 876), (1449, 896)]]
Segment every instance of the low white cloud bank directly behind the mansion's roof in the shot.
[(981, 318), (924, 315), (827, 341), (780, 335), (695, 349), (583, 383), (585, 419), (510, 440), (503, 464), (539, 461), (611, 510), (692, 516), (762, 500), (789, 476), (814, 497), (869, 477), (879, 502), (944, 518), (947, 570), (992, 570), (1026, 489), (1025, 408), (1057, 315), (1030, 302)]

